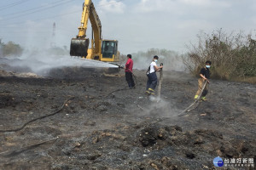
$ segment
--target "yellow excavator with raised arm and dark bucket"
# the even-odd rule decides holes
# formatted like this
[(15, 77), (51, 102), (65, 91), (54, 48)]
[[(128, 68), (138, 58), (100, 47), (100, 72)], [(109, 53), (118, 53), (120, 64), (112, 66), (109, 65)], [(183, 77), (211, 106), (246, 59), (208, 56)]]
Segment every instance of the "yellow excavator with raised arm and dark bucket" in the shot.
[[(91, 48), (89, 38), (86, 38), (85, 34), (88, 20), (92, 27)], [(101, 20), (91, 0), (84, 1), (79, 35), (71, 40), (70, 55), (106, 62), (119, 61), (118, 41), (102, 39)]]

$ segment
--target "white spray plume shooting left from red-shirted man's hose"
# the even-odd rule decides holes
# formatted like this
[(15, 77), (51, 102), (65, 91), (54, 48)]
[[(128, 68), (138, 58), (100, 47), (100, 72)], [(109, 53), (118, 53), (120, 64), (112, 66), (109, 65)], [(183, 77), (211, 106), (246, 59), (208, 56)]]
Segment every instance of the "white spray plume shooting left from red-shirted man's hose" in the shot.
[(61, 67), (118, 67), (102, 61), (71, 57), (68, 54), (49, 54), (48, 50), (26, 50), (20, 57), (9, 56), (8, 58), (2, 58), (1, 60), (2, 64), (9, 65), (8, 71), (33, 72), (39, 76), (47, 76), (51, 69)]

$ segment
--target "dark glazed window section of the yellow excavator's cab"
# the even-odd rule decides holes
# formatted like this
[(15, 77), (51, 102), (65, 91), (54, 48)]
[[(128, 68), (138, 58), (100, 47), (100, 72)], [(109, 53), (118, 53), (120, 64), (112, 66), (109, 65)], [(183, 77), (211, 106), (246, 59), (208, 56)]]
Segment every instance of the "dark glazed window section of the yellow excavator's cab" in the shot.
[(113, 54), (116, 54), (116, 42), (102, 41), (102, 58), (113, 58)]

